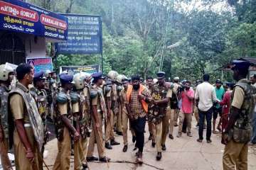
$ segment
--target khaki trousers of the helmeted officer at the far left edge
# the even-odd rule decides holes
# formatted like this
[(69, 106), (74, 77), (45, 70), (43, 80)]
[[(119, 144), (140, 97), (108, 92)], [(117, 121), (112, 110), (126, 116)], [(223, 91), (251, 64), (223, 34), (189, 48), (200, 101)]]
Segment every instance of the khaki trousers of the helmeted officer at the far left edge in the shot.
[(3, 166), (4, 170), (12, 169), (11, 162), (8, 157), (8, 149), (9, 149), (8, 140), (4, 139), (3, 142), (0, 142), (0, 159), (1, 159), (1, 165)]

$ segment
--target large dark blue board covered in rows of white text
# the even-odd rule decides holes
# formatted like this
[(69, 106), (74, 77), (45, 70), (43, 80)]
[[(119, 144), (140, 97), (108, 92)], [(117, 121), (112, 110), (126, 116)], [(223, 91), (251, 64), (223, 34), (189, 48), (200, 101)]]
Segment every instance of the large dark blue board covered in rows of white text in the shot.
[(63, 14), (68, 18), (68, 40), (58, 42), (58, 54), (99, 54), (102, 52), (100, 16)]

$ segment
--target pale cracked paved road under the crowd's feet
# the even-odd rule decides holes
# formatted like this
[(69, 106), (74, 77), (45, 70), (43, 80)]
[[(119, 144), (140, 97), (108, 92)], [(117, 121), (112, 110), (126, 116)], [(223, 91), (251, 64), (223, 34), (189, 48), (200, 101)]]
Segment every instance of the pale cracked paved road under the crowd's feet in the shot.
[[(175, 128), (174, 135), (176, 136), (178, 128)], [(196, 142), (198, 130), (195, 128), (195, 120), (193, 120), (192, 128), (193, 137), (188, 137), (183, 134), (182, 137), (174, 137), (174, 140), (169, 138), (166, 141), (166, 152), (163, 152), (160, 162), (156, 161), (156, 148), (151, 147), (151, 141), (148, 140), (149, 132), (146, 126), (145, 147), (144, 147), (144, 164), (137, 166), (132, 162), (135, 161), (134, 144), (132, 143), (132, 135), (129, 133), (129, 145), (126, 153), (122, 152), (123, 145), (114, 146), (112, 150), (106, 149), (107, 157), (111, 158), (109, 167), (107, 164), (90, 162), (89, 166), (92, 170), (156, 170), (156, 169), (172, 169), (172, 170), (221, 170), (222, 156), (224, 145), (220, 143), (220, 135), (212, 135), (213, 142), (211, 144)], [(206, 131), (204, 133), (206, 135)], [(122, 136), (116, 136), (116, 140), (122, 143)], [(52, 140), (46, 146), (48, 157), (46, 162), (52, 165), (55, 161), (57, 152), (57, 140)], [(95, 147), (95, 155), (97, 155), (97, 147)], [(71, 159), (73, 161), (73, 158)], [(127, 161), (124, 162), (124, 161)], [(122, 162), (122, 163), (119, 163)], [(248, 156), (248, 169), (256, 169), (256, 146), (250, 147)], [(50, 166), (52, 167), (52, 166)], [(71, 164), (70, 169), (73, 169)]]

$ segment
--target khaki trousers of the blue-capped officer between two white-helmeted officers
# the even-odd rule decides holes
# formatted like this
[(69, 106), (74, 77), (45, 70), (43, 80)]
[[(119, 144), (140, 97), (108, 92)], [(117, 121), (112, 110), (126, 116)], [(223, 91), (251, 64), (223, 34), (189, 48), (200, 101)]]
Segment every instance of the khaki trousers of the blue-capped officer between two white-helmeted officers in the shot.
[(92, 132), (90, 134), (89, 146), (87, 157), (92, 157), (95, 148), (95, 141), (97, 143), (97, 150), (99, 157), (105, 157), (104, 147), (103, 147), (103, 134), (102, 134), (102, 113), (98, 113), (98, 118), (100, 120), (100, 130), (95, 127), (95, 120), (92, 118)]

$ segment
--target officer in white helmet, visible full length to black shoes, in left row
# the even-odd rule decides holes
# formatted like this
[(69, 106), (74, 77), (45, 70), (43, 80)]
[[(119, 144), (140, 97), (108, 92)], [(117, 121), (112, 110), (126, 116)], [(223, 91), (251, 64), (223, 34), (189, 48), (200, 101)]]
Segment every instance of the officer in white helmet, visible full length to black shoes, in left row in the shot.
[(104, 86), (105, 101), (107, 106), (107, 118), (106, 118), (106, 137), (105, 147), (112, 149), (111, 145), (120, 145), (119, 142), (114, 140), (114, 116), (118, 113), (117, 105), (117, 85), (114, 84), (117, 81), (118, 73), (110, 71), (107, 74), (107, 84)]

